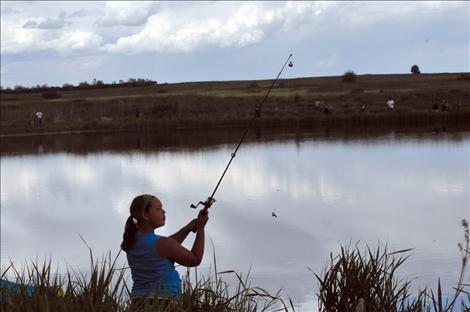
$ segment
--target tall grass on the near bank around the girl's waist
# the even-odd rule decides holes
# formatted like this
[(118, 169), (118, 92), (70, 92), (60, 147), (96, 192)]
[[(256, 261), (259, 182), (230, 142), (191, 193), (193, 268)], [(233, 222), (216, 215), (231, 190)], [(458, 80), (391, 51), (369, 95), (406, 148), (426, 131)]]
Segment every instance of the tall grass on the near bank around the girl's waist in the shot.
[[(100, 261), (90, 251), (91, 267), (88, 273), (78, 273), (68, 268), (63, 275), (52, 274), (51, 261), (42, 265), (31, 262), (23, 271), (11, 263), (2, 272), (2, 279), (13, 275), (17, 288), (3, 285), (0, 289), (1, 311), (277, 311), (287, 310), (280, 292), (270, 294), (261, 287), (252, 287), (249, 276), (243, 278), (235, 271), (217, 272), (190, 278), (183, 277), (181, 298), (159, 301), (148, 298), (139, 305), (130, 300), (130, 287), (125, 279), (125, 269), (118, 268), (116, 260), (108, 253)], [(234, 274), (238, 283), (230, 286), (223, 276)], [(31, 290), (34, 285), (34, 290)], [(292, 303), (291, 303), (292, 304)]]

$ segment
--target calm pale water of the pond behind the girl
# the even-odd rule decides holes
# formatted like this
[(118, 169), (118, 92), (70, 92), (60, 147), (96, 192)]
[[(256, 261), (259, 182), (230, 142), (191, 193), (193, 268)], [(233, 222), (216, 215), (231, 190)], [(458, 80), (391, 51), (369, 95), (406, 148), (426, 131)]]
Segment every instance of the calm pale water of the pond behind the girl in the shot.
[[(172, 234), (196, 216), (190, 203), (210, 195), (238, 135), (2, 139), (2, 268), (51, 257), (86, 271), (79, 234), (95, 255), (115, 254), (141, 193), (162, 200), (159, 232)], [(283, 287), (307, 311), (317, 289), (307, 267), (320, 273), (341, 244), (380, 241), (414, 248), (401, 276), (433, 287), (440, 277), (449, 290), (470, 213), (469, 150), (468, 133), (252, 135), (216, 194), (201, 269), (215, 252), (218, 270), (251, 270), (252, 285)]]

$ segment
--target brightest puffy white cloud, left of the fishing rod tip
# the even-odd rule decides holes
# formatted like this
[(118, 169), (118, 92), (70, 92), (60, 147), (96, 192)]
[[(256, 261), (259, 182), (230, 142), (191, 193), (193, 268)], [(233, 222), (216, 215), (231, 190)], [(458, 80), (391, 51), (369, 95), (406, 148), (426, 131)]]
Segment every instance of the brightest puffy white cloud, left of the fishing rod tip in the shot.
[(272, 25), (282, 20), (279, 10), (264, 11), (244, 4), (227, 18), (178, 19), (172, 13), (152, 15), (144, 29), (107, 44), (110, 52), (190, 52), (205, 46), (244, 47), (261, 41)]

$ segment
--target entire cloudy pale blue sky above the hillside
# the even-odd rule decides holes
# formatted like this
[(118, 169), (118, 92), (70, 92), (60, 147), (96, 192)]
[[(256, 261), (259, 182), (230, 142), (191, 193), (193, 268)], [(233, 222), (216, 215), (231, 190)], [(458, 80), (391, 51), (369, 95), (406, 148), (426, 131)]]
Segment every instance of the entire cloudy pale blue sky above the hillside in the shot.
[(1, 85), (470, 71), (470, 2), (1, 1)]

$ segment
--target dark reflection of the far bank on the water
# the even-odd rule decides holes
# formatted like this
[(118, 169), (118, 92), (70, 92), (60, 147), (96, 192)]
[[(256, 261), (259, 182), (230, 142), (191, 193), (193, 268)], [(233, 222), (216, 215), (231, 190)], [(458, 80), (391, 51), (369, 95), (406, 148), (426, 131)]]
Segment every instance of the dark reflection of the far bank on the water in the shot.
[[(454, 130), (453, 132), (449, 130)], [(460, 126), (462, 128), (462, 126)], [(395, 131), (390, 128), (347, 128), (347, 129), (253, 129), (246, 137), (248, 142), (268, 142), (291, 139), (297, 147), (303, 140), (321, 138), (341, 142), (382, 140), (393, 141), (411, 138), (412, 140), (426, 139), (427, 141), (462, 140), (462, 133), (470, 131), (470, 126), (460, 129), (457, 126), (400, 128)], [(73, 153), (88, 154), (102, 151), (141, 151), (153, 152), (160, 149), (195, 149), (204, 146), (235, 144), (240, 140), (243, 129), (215, 130), (168, 130), (155, 132), (103, 132), (103, 133), (72, 133), (61, 135), (36, 136), (2, 136), (1, 155), (12, 154), (41, 154), (41, 153)]]

